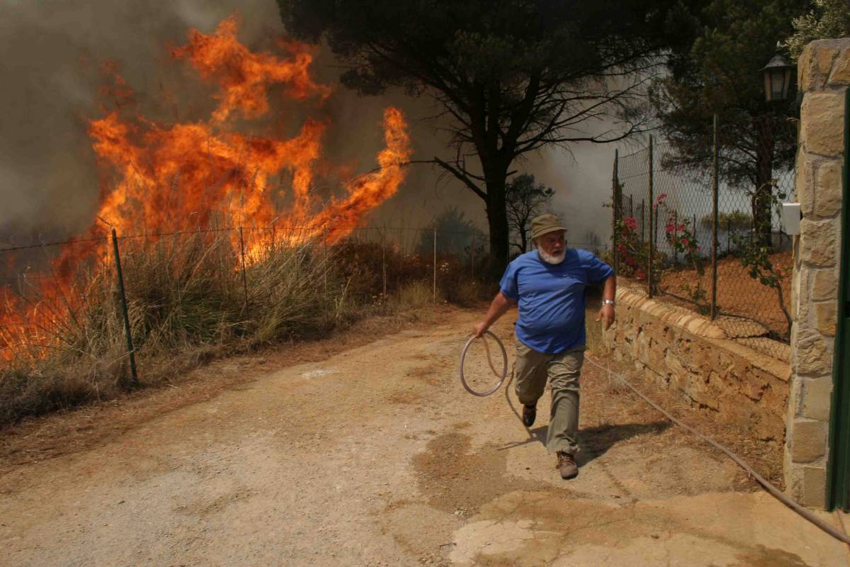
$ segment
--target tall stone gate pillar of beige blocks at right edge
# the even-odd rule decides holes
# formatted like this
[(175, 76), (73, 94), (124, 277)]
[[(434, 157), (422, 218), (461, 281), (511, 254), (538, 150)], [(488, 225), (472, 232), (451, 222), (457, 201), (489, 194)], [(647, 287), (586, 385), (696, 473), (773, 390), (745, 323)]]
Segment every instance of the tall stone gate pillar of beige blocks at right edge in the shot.
[(824, 507), (841, 254), (844, 93), (850, 38), (810, 43), (797, 62), (803, 93), (794, 192), (802, 207), (791, 283), (791, 392), (785, 486)]

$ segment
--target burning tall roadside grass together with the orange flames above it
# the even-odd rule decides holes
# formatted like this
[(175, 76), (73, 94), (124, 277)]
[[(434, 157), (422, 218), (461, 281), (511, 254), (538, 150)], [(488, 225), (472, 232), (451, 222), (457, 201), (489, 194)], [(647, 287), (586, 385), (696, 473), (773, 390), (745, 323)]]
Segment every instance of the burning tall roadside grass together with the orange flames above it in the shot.
[[(237, 28), (231, 17), (210, 34), (192, 30), (187, 44), (170, 51), (212, 88), (218, 105), (206, 118), (145, 117), (118, 65), (104, 66), (103, 116), (88, 128), (102, 173), (100, 201), (82, 238), (51, 259), (51, 279), (5, 290), (0, 422), (108, 399), (130, 382), (103, 223), (119, 234), (146, 234), (121, 245), (144, 384), (230, 351), (321, 336), (375, 305), (388, 309), (383, 282), (375, 285), (382, 274), (374, 269), (375, 247), (345, 239), (405, 178), (411, 140), (404, 116), (385, 109), (377, 169), (350, 177), (322, 157), (332, 88), (310, 77), (315, 49), (281, 39), (275, 53), (255, 53), (238, 41)], [(305, 106), (294, 137), (278, 116), (286, 105), (270, 104), (271, 97)], [(271, 120), (252, 128), (262, 118)], [(329, 180), (338, 190), (320, 201), (315, 185)], [(290, 230), (275, 241), (280, 218), (300, 227), (298, 235)], [(250, 226), (271, 238), (243, 241), (241, 228), (218, 226)], [(416, 264), (410, 259), (394, 258), (394, 265)]]

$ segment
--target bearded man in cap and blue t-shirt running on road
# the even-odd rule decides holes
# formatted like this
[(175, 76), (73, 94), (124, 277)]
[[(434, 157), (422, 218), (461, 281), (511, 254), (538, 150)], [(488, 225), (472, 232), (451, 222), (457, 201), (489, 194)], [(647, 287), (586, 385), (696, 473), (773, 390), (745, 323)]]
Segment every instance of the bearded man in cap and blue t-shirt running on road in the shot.
[(519, 303), (515, 326), (517, 356), (513, 372), (515, 389), (523, 404), (523, 423), (530, 428), (537, 415), (537, 400), (552, 384), (552, 408), (547, 449), (558, 456), (556, 467), (564, 479), (578, 475), (579, 376), (587, 341), (585, 288), (604, 283), (603, 305), (596, 320), (605, 328), (614, 322), (616, 280), (614, 270), (591, 252), (567, 248), (566, 229), (553, 214), (531, 221), (535, 247), (508, 264), (500, 292), (490, 303), (483, 321), (475, 326), (481, 337), (496, 320)]

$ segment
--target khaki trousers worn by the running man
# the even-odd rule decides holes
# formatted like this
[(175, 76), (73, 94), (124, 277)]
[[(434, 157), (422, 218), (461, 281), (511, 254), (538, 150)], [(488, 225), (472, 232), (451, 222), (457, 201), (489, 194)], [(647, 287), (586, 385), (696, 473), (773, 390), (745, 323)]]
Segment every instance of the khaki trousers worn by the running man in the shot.
[(552, 387), (552, 409), (546, 446), (549, 451), (579, 451), (579, 376), (584, 363), (584, 347), (559, 354), (539, 353), (517, 341), (513, 366), (514, 389), (524, 405), (535, 405)]

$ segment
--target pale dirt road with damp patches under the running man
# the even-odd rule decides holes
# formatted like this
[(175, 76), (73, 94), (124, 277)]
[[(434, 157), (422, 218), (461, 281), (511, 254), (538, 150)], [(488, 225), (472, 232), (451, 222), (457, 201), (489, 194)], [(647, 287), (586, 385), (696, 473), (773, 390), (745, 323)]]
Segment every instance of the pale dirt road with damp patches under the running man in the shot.
[(847, 564), (845, 547), (589, 368), (581, 473), (561, 480), (546, 415), (528, 434), (503, 395), (457, 381), (475, 318), (282, 367), (12, 468), (0, 564)]

